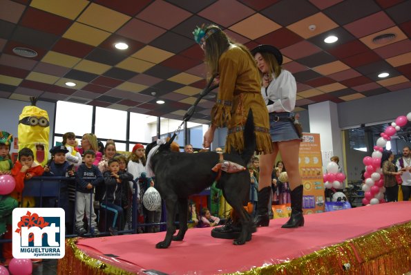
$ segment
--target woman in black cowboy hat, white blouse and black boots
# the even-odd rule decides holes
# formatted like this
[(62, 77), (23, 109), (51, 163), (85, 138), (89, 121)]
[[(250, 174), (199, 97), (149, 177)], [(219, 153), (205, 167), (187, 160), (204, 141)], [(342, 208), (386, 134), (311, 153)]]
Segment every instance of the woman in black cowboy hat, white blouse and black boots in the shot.
[[(288, 70), (281, 68), (283, 55), (271, 45), (260, 45), (253, 50), (261, 76), (261, 93), (267, 105), (270, 120), (270, 134), (274, 153), (260, 157), (260, 169), (272, 169), (278, 152), (285, 166), (291, 187), (291, 218), (283, 228), (304, 225), (303, 218), (303, 185), (298, 170), (298, 151), (300, 134), (294, 124), (294, 107), (296, 105), (296, 79)], [(267, 182), (259, 182), (258, 215), (254, 220), (257, 226), (268, 226), (268, 203), (271, 187)]]

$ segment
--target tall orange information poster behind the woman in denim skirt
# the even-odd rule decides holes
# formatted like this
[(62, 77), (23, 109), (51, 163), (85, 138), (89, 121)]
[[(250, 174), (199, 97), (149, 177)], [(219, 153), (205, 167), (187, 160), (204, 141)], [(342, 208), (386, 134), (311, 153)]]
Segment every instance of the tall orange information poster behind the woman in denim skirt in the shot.
[(303, 212), (304, 214), (321, 213), (324, 211), (325, 198), (320, 134), (303, 134), (298, 164), (304, 187)]

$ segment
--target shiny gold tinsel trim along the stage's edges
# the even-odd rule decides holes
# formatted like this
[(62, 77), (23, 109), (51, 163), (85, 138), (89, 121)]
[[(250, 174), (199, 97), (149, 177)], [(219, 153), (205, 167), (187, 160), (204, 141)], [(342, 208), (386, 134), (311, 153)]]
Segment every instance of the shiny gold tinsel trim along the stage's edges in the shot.
[[(66, 240), (66, 256), (59, 260), (58, 274), (133, 274), (91, 258), (77, 247), (76, 242), (77, 238)], [(247, 272), (232, 274), (395, 275), (410, 270), (411, 222), (406, 222), (284, 263), (254, 267)], [(201, 270), (198, 272), (201, 273)]]

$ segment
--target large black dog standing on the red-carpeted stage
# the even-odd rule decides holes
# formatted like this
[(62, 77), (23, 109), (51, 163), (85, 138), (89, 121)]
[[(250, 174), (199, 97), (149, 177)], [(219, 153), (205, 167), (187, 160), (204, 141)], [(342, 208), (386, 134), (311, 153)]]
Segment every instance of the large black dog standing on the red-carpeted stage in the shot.
[[(247, 167), (256, 149), (256, 135), (254, 133), (253, 114), (250, 109), (244, 130), (245, 149), (241, 155), (238, 153), (224, 153), (224, 160), (236, 162)], [(156, 145), (153, 142), (146, 147), (146, 154)], [(231, 150), (234, 152), (234, 150)], [(187, 231), (187, 202), (188, 197), (211, 186), (218, 173), (211, 169), (219, 163), (220, 154), (215, 152), (205, 153), (178, 153), (171, 152), (170, 144), (162, 144), (157, 152), (151, 156), (151, 168), (155, 173), (155, 188), (160, 192), (166, 203), (167, 232), (166, 238), (157, 243), (157, 248), (167, 248), (171, 240), (182, 240)], [(243, 245), (251, 240), (251, 216), (245, 211), (243, 205), (247, 205), (250, 186), (249, 171), (238, 173), (221, 172), (219, 186), (224, 198), (233, 207), (239, 216), (242, 231), (239, 238), (233, 241), (234, 245)], [(175, 214), (179, 210), (180, 230), (175, 233)]]

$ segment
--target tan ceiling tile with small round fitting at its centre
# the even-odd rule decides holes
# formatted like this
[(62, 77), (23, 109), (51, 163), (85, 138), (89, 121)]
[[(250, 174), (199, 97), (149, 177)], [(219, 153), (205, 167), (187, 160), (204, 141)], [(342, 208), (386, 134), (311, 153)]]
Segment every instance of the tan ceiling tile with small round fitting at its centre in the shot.
[[(310, 25), (315, 25), (315, 30), (310, 30), (308, 28), (308, 26)], [(324, 15), (323, 12), (318, 12), (315, 15), (287, 26), (289, 30), (296, 32), (297, 35), (300, 35), (300, 37), (304, 37), (305, 39), (314, 37), (323, 32), (326, 32), (327, 30), (332, 30), (337, 27), (338, 25), (334, 21), (329, 19), (326, 15)]]

